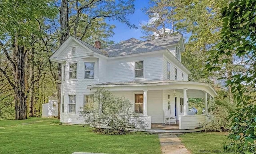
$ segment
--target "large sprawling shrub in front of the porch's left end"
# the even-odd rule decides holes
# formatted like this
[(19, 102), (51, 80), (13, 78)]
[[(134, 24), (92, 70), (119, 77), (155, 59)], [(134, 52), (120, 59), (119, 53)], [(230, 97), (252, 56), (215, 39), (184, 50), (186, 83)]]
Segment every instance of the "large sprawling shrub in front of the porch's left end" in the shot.
[(104, 128), (105, 133), (125, 134), (128, 128), (144, 129), (145, 126), (144, 119), (134, 113), (131, 107), (128, 99), (114, 97), (109, 91), (99, 88), (94, 94), (94, 101), (80, 113), (86, 123)]

